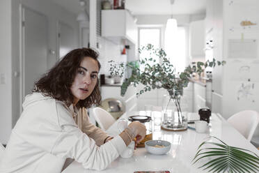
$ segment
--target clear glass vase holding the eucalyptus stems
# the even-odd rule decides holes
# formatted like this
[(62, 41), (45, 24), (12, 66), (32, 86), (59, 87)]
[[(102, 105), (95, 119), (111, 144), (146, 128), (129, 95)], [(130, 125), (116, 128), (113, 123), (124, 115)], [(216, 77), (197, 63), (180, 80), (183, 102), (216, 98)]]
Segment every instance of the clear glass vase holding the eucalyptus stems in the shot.
[(183, 90), (168, 90), (163, 98), (163, 124), (165, 130), (187, 130), (181, 109), (181, 98)]

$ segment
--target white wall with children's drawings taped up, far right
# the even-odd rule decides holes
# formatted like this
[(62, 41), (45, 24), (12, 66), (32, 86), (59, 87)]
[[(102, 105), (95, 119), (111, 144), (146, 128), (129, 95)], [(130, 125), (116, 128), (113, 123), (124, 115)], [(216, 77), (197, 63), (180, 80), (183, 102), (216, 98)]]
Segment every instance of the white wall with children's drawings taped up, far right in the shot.
[[(259, 40), (259, 1), (256, 0), (237, 0), (231, 6), (223, 1), (223, 60), (225, 60), (226, 66), (223, 67), (223, 116), (228, 117), (242, 110), (256, 110), (259, 112), (259, 44), (257, 45), (257, 58), (255, 59), (230, 59), (228, 56), (229, 48), (228, 43), (230, 39), (242, 40), (244, 39), (256, 39)], [(244, 29), (240, 26), (240, 22), (243, 20), (251, 20), (251, 22), (257, 23), (251, 28)], [(233, 30), (230, 30), (230, 29)], [(242, 37), (242, 33), (244, 34)], [(239, 68), (241, 66), (250, 66), (251, 82), (248, 80), (240, 79)], [(248, 98), (242, 98), (237, 100), (237, 90), (244, 84), (254, 84), (253, 100)], [(259, 129), (258, 129), (259, 130)], [(258, 131), (259, 135), (259, 131)]]

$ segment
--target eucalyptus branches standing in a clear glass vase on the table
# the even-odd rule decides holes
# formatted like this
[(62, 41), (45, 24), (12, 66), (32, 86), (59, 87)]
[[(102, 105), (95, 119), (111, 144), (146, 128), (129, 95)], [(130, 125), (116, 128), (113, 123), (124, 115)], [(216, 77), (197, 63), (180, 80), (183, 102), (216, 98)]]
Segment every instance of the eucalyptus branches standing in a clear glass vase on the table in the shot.
[[(164, 50), (155, 49), (154, 46), (150, 44), (141, 47), (139, 49), (139, 53), (141, 54), (143, 50), (148, 51), (150, 57), (131, 61), (128, 63), (119, 63), (120, 66), (116, 66), (114, 61), (110, 61), (111, 75), (123, 74), (125, 69), (131, 70), (130, 77), (125, 78), (123, 81), (120, 95), (125, 95), (127, 87), (129, 87), (130, 84), (134, 84), (134, 87), (136, 87), (138, 84), (143, 84), (144, 87), (138, 93), (136, 93), (137, 96), (140, 96), (144, 92), (151, 91), (151, 89), (166, 89), (169, 99), (167, 106), (164, 107), (164, 123), (162, 127), (171, 130), (187, 129), (187, 125), (184, 123), (182, 117), (180, 98), (182, 96), (183, 89), (188, 86), (191, 74), (198, 73), (201, 75), (207, 66), (215, 67), (224, 65), (226, 61), (216, 61), (216, 59), (213, 59), (213, 61), (206, 61), (205, 63), (199, 61), (197, 62), (196, 67), (187, 66), (183, 72), (176, 73), (175, 67), (170, 63), (168, 57), (166, 57), (166, 52), (164, 52)], [(157, 60), (152, 58), (154, 56), (159, 58), (158, 63), (156, 63)], [(178, 123), (176, 124), (173, 123), (170, 119), (173, 112), (168, 112), (167, 110), (170, 103), (175, 105), (175, 112), (178, 114)]]

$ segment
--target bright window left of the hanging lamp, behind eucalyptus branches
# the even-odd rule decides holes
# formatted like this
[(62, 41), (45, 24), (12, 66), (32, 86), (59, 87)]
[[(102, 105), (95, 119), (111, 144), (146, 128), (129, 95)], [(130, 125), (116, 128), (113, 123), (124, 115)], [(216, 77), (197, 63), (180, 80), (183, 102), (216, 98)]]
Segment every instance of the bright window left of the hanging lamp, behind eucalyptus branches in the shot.
[[(155, 49), (160, 48), (160, 29), (159, 28), (141, 28), (139, 29), (139, 48), (148, 44), (154, 45)], [(150, 52), (143, 51), (139, 54), (139, 59), (150, 58), (156, 59), (155, 62), (150, 61), (150, 66), (159, 63), (159, 57), (150, 56)], [(140, 67), (143, 70), (143, 66)]]

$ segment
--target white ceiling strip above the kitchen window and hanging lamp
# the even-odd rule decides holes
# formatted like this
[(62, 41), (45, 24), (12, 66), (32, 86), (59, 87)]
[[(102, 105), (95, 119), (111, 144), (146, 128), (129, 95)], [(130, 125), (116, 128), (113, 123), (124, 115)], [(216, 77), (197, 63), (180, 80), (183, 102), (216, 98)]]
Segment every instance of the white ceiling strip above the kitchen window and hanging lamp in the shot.
[(134, 15), (204, 14), (206, 0), (126, 0), (125, 6)]

